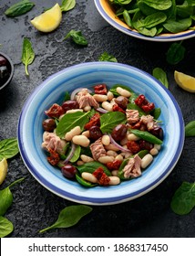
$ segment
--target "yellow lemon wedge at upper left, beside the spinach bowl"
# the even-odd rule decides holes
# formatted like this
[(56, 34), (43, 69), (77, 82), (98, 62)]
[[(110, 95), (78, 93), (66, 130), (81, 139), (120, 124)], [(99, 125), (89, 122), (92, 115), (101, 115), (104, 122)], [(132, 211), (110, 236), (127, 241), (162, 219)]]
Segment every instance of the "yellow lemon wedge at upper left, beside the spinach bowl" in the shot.
[(41, 32), (51, 32), (59, 26), (62, 20), (62, 11), (58, 4), (54, 5), (51, 9), (47, 10), (40, 16), (36, 16), (30, 22)]

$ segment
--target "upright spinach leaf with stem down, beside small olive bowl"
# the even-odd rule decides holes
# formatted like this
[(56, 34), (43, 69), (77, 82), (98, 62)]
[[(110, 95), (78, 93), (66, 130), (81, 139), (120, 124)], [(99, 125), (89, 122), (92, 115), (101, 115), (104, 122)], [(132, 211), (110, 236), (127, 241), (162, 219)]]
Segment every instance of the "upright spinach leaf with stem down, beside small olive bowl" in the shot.
[(33, 63), (35, 57), (36, 57), (36, 55), (32, 48), (31, 42), (27, 38), (24, 38), (23, 51), (22, 51), (22, 62), (26, 67), (26, 75), (27, 76), (29, 76), (27, 67), (28, 67), (28, 65)]

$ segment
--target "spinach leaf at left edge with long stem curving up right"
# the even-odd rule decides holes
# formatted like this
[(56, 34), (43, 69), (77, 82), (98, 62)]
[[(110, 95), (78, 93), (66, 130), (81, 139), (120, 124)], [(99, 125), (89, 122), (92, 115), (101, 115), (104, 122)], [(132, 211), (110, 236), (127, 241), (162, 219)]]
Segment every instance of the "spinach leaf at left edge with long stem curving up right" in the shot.
[(13, 187), (16, 183), (23, 181), (24, 178), (15, 180), (11, 185), (0, 190), (0, 216), (5, 215), (8, 208), (11, 207), (13, 202), (13, 195), (10, 191), (10, 187)]

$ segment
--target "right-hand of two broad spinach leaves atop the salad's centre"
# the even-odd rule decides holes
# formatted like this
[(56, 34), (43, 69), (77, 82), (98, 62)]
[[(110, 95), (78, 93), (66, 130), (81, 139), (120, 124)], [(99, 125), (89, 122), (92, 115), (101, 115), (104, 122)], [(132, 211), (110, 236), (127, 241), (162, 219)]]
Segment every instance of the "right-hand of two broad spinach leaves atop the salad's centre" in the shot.
[(100, 130), (102, 133), (111, 133), (113, 128), (126, 122), (126, 115), (122, 112), (107, 112), (100, 117)]

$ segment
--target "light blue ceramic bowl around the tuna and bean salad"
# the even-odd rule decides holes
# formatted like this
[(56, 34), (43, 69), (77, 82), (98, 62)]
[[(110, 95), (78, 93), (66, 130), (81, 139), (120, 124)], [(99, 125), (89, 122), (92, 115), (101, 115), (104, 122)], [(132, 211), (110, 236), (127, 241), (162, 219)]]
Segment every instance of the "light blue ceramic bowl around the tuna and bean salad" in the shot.
[[(108, 87), (116, 83), (145, 94), (161, 108), (159, 119), (165, 133), (163, 146), (151, 165), (139, 178), (118, 186), (82, 187), (62, 176), (59, 169), (49, 165), (42, 144), (42, 122), (53, 103), (63, 101), (65, 91), (79, 87), (91, 88), (97, 83)], [(88, 62), (63, 69), (49, 77), (27, 99), (18, 123), (20, 153), (36, 180), (60, 197), (89, 205), (117, 204), (140, 197), (157, 187), (177, 164), (184, 144), (184, 123), (180, 107), (158, 80), (145, 71), (112, 62)], [(163, 191), (162, 191), (163, 193)]]

